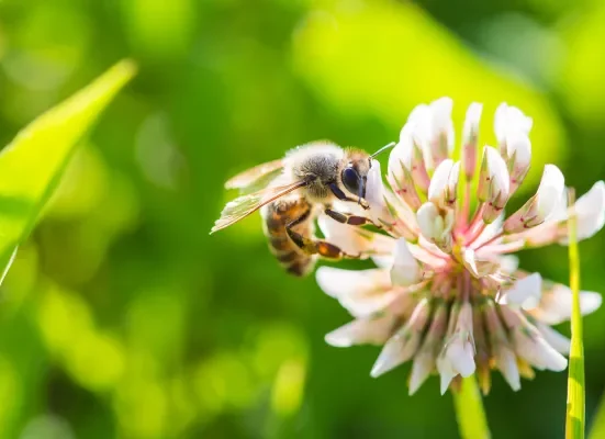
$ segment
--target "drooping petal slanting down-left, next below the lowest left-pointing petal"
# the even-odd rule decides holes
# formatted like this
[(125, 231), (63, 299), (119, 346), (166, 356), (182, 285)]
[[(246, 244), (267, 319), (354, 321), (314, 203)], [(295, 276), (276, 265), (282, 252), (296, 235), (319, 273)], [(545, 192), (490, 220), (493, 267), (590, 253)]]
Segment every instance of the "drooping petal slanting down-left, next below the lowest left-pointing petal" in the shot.
[(416, 353), (429, 312), (428, 300), (423, 299), (414, 308), (405, 326), (395, 333), (382, 348), (370, 372), (372, 378), (389, 372)]

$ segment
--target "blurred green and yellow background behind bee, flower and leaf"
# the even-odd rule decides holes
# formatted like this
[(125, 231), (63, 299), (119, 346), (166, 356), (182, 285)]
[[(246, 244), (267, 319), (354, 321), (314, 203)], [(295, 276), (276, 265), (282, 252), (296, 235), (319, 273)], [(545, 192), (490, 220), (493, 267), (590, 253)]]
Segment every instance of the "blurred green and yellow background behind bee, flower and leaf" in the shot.
[[(501, 101), (534, 117), (514, 204), (549, 161), (583, 193), (605, 177), (603, 38), (598, 0), (0, 0), (1, 145), (115, 60), (141, 67), (1, 286), (0, 438), (458, 437), (437, 379), (408, 397), (408, 365), (373, 380), (379, 348), (324, 342), (349, 316), (282, 272), (258, 217), (209, 236), (223, 182), (318, 138), (373, 150), (450, 95), (458, 134), (485, 103), (485, 143)], [(604, 246), (581, 245), (586, 290)], [(565, 282), (565, 248), (520, 258)], [(601, 309), (589, 421), (604, 346)], [(494, 438), (562, 438), (565, 382), (495, 373)]]

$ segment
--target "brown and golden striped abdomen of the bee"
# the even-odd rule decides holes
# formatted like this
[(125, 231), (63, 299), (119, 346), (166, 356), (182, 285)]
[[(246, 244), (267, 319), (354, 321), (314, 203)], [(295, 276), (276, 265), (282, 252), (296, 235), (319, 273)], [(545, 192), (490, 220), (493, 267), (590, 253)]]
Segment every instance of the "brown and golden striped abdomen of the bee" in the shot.
[[(269, 249), (283, 266), (294, 275), (304, 275), (315, 264), (315, 257), (306, 255), (296, 246), (285, 232), (285, 226), (309, 213), (311, 205), (303, 198), (280, 199), (267, 204), (262, 211), (265, 236)], [(310, 217), (293, 227), (303, 236), (313, 234), (313, 219)]]

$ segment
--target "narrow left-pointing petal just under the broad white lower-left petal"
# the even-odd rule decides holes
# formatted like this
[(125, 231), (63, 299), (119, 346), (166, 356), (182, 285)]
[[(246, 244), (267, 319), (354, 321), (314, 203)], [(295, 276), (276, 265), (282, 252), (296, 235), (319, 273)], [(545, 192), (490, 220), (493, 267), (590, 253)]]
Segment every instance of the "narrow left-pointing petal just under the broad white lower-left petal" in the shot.
[(395, 317), (365, 317), (355, 319), (325, 336), (328, 345), (336, 348), (348, 348), (355, 345), (382, 345), (393, 330)]

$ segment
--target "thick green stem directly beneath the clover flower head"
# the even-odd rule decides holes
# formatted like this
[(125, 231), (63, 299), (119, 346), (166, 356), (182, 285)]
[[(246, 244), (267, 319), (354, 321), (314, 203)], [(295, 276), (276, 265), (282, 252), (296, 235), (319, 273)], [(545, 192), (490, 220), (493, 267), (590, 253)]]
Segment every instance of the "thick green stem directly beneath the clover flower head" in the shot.
[(456, 419), (462, 439), (488, 439), (490, 429), (474, 375), (462, 380), (460, 392), (452, 392)]

